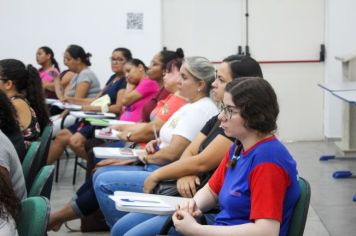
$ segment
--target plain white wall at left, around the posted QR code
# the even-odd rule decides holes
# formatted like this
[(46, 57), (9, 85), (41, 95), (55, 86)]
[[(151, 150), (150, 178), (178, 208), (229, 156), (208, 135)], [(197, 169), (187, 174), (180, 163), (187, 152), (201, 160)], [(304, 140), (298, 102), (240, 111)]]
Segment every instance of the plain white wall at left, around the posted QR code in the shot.
[[(126, 29), (128, 12), (144, 13), (143, 30)], [(78, 44), (92, 53), (92, 70), (104, 84), (114, 48), (127, 47), (145, 63), (161, 50), (161, 1), (0, 0), (0, 28), (0, 58), (38, 66), (36, 50), (48, 45), (62, 64), (66, 47)]]

